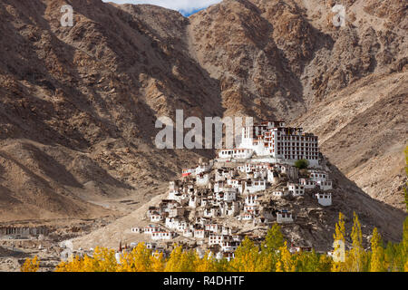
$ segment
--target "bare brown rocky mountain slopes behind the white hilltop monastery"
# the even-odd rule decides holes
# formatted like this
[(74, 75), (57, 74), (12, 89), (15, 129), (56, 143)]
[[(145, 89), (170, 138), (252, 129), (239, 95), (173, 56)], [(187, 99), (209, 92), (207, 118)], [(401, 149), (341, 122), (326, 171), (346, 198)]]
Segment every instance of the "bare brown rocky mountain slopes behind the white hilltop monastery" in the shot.
[(335, 1), (225, 0), (185, 18), (73, 0), (73, 27), (60, 24), (64, 4), (0, 3), (2, 220), (109, 215), (103, 200), (213, 156), (155, 149), (154, 122), (176, 109), (305, 126), (348, 178), (402, 208), (402, 1), (345, 1), (342, 28)]

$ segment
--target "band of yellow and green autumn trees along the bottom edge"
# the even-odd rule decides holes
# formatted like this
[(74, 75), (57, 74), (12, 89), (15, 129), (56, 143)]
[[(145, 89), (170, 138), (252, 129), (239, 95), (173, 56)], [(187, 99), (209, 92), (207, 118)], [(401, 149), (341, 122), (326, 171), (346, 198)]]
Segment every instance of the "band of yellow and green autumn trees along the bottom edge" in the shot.
[[(290, 252), (279, 225), (274, 224), (265, 240), (257, 244), (248, 237), (228, 261), (217, 259), (212, 252), (199, 256), (194, 250), (175, 245), (168, 258), (152, 252), (143, 243), (118, 257), (112, 249), (96, 247), (92, 256), (73, 256), (68, 262), (56, 266), (57, 272), (406, 272), (408, 271), (408, 218), (403, 224), (403, 241), (387, 244), (374, 228), (371, 249), (364, 250), (364, 240), (358, 216), (354, 213), (349, 236), (345, 230), (345, 216), (339, 213), (334, 240), (344, 243), (350, 238), (350, 248), (345, 249), (344, 260), (334, 260), (325, 253)], [(119, 259), (119, 261), (118, 261)], [(38, 271), (37, 257), (27, 259), (23, 272)]]

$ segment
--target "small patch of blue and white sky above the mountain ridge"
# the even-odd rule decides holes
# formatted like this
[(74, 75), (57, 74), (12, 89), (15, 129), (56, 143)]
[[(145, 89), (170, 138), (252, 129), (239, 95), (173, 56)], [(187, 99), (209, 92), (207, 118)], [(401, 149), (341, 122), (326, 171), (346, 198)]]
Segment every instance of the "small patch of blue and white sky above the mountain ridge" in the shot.
[(114, 2), (117, 4), (151, 4), (180, 11), (181, 14), (189, 16), (199, 12), (209, 5), (214, 5), (222, 0), (102, 0), (103, 2)]

